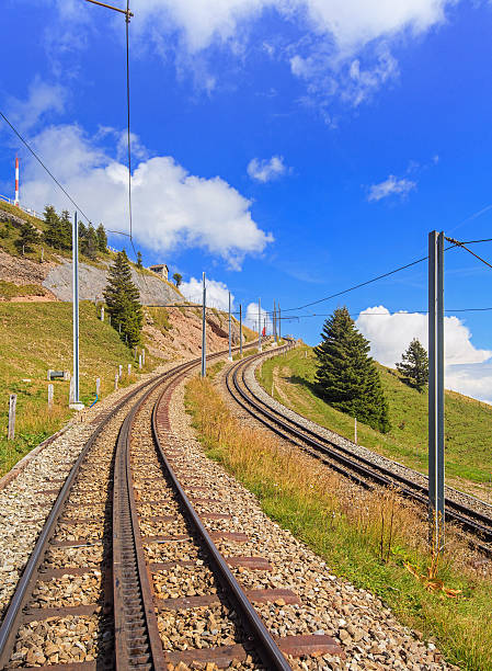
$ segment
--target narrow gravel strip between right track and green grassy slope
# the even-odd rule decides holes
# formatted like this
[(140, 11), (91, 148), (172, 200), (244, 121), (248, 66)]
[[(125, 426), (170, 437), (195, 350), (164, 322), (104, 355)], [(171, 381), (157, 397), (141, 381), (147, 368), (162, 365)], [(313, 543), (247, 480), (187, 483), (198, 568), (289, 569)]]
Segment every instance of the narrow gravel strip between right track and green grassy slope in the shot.
[[(277, 355), (277, 352), (268, 353), (265, 355), (265, 357), (259, 359), (253, 362), (250, 366), (247, 367), (244, 372), (244, 379), (248, 386), (252, 389), (253, 394), (260, 398), (262, 402), (267, 405), (273, 410), (281, 412), (288, 419), (295, 420), (301, 427), (310, 429), (311, 431), (316, 431), (316, 433), (322, 435), (329, 441), (332, 441), (333, 443), (335, 443), (335, 445), (340, 445), (341, 447), (348, 450), (352, 454), (354, 454), (354, 456), (362, 456), (366, 459), (370, 459), (375, 464), (384, 466), (385, 468), (388, 468), (398, 475), (401, 475), (414, 482), (419, 482), (420, 485), (427, 487), (427, 476), (422, 475), (413, 468), (403, 466), (403, 464), (400, 464), (399, 462), (394, 462), (380, 454), (377, 454), (376, 452), (373, 452), (371, 450), (368, 450), (363, 445), (356, 445), (352, 441), (339, 435), (334, 431), (330, 431), (329, 429), (325, 429), (324, 427), (321, 427), (320, 424), (317, 424), (316, 422), (306, 419), (301, 414), (298, 414), (294, 410), (290, 410), (286, 406), (283, 406), (272, 396), (270, 396), (270, 394), (267, 394), (258, 382), (256, 371), (263, 364), (265, 359), (271, 359)], [(477, 510), (481, 514), (488, 515), (489, 518), (492, 518), (492, 505), (487, 501), (482, 501), (481, 499), (478, 499), (471, 494), (465, 493), (462, 491), (459, 491), (458, 489), (448, 486), (446, 486), (445, 488), (445, 493), (448, 499), (456, 501), (457, 503), (461, 503), (462, 505), (467, 505), (472, 510)]]

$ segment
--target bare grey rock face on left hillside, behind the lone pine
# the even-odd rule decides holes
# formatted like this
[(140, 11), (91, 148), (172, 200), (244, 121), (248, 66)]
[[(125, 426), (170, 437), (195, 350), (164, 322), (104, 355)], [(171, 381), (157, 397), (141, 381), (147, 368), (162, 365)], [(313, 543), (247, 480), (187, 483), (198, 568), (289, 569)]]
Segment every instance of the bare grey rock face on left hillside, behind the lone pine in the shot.
[[(103, 291), (107, 284), (107, 263), (99, 266), (88, 263), (79, 264), (79, 297), (81, 300), (102, 300)], [(140, 300), (144, 305), (168, 305), (183, 300), (183, 296), (173, 286), (160, 277), (137, 273), (131, 269), (133, 281), (140, 291)], [(52, 268), (43, 282), (43, 286), (50, 291), (58, 300), (71, 300), (72, 264), (60, 260), (60, 264)]]

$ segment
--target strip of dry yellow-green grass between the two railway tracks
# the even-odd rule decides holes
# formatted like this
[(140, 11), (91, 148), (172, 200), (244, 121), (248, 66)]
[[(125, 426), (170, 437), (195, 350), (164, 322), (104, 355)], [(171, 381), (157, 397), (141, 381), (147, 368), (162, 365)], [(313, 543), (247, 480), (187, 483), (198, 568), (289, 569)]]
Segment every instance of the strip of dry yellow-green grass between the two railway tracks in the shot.
[(194, 378), (186, 407), (207, 455), (250, 491), (267, 515), (305, 542), (330, 570), (376, 593), (401, 622), (434, 637), (462, 669), (492, 670), (491, 576), (479, 575), (449, 530), (440, 561), (426, 525), (392, 492), (364, 492), (264, 430), (242, 427), (210, 380)]

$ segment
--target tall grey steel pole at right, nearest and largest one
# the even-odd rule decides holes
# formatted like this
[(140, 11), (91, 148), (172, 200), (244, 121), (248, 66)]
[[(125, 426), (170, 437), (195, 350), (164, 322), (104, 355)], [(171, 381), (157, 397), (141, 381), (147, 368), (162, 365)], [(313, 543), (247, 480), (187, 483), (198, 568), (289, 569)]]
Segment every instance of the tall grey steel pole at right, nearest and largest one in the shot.
[(428, 234), (428, 522), (444, 546), (444, 232)]

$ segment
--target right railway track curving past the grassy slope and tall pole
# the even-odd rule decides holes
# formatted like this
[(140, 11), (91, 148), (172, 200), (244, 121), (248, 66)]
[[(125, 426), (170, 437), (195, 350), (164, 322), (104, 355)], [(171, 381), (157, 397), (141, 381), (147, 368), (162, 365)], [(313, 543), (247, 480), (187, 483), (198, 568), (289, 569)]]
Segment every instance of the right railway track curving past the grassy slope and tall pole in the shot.
[[(287, 344), (278, 350), (285, 352), (291, 348)], [(399, 492), (424, 507), (427, 507), (427, 488), (422, 482), (412, 479), (409, 475), (403, 475), (403, 468), (392, 469), (378, 463), (377, 458), (368, 458), (361, 454), (354, 454), (347, 447), (330, 441), (321, 431), (316, 431), (305, 423), (297, 421), (293, 412), (279, 410), (279, 403), (268, 403), (261, 398), (252, 385), (247, 380), (247, 371), (259, 359), (264, 356), (260, 353), (240, 361), (226, 374), (226, 387), (231, 397), (248, 413), (259, 420), (262, 424), (271, 429), (278, 436), (294, 443), (296, 446), (308, 452), (316, 458), (333, 468), (343, 476), (355, 480), (358, 485), (370, 488), (375, 485), (382, 487), (397, 487)], [(299, 418), (300, 419), (300, 418)], [(420, 476), (419, 479), (422, 479)], [(459, 492), (461, 493), (461, 492)], [(472, 497), (462, 494), (470, 501), (477, 501)], [(472, 537), (472, 545), (488, 556), (492, 556), (492, 518), (484, 514), (477, 507), (464, 504), (453, 498), (446, 498), (446, 519), (460, 525), (460, 527)]]

